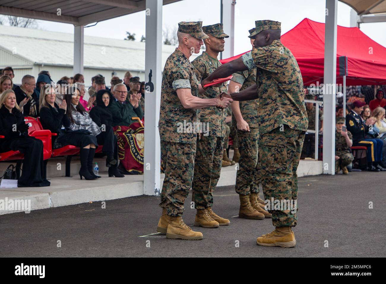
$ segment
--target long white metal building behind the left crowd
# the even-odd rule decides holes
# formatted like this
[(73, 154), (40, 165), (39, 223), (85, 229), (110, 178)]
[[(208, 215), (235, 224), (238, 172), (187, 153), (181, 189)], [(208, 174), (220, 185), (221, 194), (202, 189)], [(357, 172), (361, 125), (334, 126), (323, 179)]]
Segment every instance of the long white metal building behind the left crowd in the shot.
[[(91, 77), (102, 74), (106, 85), (115, 76), (123, 79), (126, 71), (133, 76), (145, 78), (145, 43), (123, 39), (85, 36), (84, 71), (86, 85)], [(74, 34), (64, 32), (0, 26), (0, 69), (14, 68), (14, 83), (20, 84), (24, 75), (37, 77), (42, 70), (48, 70), (52, 80), (72, 77), (74, 63)], [(176, 46), (162, 45), (162, 67)], [(193, 60), (199, 54), (193, 54)]]

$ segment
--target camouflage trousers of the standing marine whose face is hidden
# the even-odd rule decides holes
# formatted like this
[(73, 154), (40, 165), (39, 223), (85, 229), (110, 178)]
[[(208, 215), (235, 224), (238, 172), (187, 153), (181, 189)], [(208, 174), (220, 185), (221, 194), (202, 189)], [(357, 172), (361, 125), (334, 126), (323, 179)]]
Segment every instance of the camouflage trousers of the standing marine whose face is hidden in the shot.
[(237, 137), (239, 139), (240, 160), (235, 190), (241, 195), (248, 195), (251, 192), (258, 194), (261, 180), (261, 165), (257, 165), (259, 128), (250, 128), (249, 132), (237, 129)]

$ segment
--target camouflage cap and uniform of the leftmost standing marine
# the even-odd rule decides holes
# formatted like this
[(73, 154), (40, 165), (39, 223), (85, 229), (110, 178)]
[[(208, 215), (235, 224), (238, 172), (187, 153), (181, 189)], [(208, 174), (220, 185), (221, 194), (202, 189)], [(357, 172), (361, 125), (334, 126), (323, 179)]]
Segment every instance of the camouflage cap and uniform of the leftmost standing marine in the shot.
[[(200, 23), (200, 29), (202, 22)], [(180, 25), (181, 24), (181, 25)], [(195, 25), (191, 22), (179, 23), (179, 30), (193, 36)], [(205, 35), (205, 34), (204, 34)], [(198, 35), (202, 39), (207, 36)], [(196, 131), (181, 131), (179, 122), (199, 122), (197, 109), (185, 109), (178, 98), (178, 88), (190, 88), (193, 96), (199, 97), (198, 81), (194, 67), (178, 48), (165, 63), (159, 113), (159, 135), (161, 138), (161, 158), (165, 165), (165, 179), (159, 206), (167, 209), (169, 216), (182, 216), (184, 202), (189, 194), (193, 179), (196, 155)]]

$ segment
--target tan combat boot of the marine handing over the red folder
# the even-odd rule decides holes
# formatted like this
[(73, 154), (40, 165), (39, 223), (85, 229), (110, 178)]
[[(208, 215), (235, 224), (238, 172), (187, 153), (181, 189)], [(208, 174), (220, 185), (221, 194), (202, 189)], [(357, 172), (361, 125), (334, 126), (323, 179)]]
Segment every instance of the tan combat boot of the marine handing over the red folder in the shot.
[(257, 245), (265, 247), (295, 247), (295, 234), (291, 227), (276, 227), (271, 233), (262, 235), (256, 240)]

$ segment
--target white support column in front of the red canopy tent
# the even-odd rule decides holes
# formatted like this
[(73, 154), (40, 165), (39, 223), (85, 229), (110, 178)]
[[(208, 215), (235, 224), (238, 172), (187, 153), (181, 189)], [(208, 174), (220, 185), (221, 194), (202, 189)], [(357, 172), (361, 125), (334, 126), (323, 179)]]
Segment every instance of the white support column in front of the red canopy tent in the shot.
[(323, 173), (330, 175), (335, 174), (337, 6), (338, 0), (326, 0), (323, 81)]

